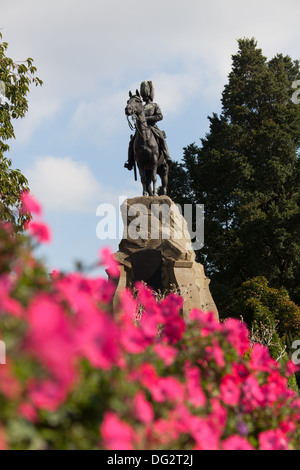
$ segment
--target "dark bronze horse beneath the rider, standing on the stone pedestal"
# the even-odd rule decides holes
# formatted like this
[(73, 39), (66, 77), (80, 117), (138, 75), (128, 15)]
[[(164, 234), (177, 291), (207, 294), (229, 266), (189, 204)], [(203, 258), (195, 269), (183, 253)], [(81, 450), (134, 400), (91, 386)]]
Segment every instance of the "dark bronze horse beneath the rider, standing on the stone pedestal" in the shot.
[(132, 116), (135, 120), (133, 154), (143, 185), (143, 196), (157, 196), (157, 175), (161, 178), (163, 194), (167, 194), (169, 166), (151, 126), (147, 123), (143, 100), (138, 90), (135, 95), (129, 92), (125, 114), (127, 119)]

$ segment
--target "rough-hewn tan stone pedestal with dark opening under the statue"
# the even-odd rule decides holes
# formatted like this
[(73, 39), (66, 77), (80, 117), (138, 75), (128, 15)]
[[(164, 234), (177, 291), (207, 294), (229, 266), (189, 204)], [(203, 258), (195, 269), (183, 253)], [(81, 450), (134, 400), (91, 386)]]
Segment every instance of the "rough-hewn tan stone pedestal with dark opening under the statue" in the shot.
[(120, 278), (115, 294), (136, 281), (156, 291), (177, 290), (184, 299), (183, 314), (192, 308), (218, 311), (209, 290), (210, 280), (195, 261), (187, 223), (168, 196), (136, 197), (121, 206), (123, 238), (115, 258)]

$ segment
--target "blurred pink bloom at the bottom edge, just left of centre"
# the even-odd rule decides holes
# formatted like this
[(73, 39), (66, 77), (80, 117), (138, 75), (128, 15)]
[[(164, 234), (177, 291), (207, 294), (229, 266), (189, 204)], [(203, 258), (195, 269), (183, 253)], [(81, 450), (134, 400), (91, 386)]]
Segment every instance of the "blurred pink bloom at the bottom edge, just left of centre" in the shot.
[(105, 413), (100, 427), (104, 447), (108, 450), (133, 450), (135, 433), (116, 413)]

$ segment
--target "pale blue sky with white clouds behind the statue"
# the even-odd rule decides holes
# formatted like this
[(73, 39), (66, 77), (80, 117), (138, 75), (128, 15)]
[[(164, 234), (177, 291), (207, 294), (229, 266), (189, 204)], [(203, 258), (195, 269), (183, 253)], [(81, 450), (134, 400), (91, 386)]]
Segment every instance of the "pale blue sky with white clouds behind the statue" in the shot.
[[(92, 263), (103, 245), (97, 207), (141, 194), (124, 169), (128, 91), (152, 80), (173, 160), (220, 112), (237, 39), (268, 58), (300, 59), (299, 0), (0, 0), (0, 29), (15, 61), (34, 59), (43, 87), (16, 123), (13, 166), (28, 178), (53, 233), (49, 269)], [(98, 213), (99, 214), (99, 213)]]

